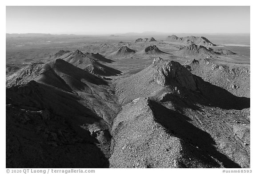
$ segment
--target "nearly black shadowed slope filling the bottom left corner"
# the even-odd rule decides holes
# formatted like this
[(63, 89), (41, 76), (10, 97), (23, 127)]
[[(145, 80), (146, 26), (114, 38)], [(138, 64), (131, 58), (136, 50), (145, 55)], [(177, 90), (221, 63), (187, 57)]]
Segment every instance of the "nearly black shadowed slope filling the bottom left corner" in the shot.
[(96, 137), (80, 127), (104, 120), (81, 99), (36, 81), (7, 88), (6, 166), (108, 167)]

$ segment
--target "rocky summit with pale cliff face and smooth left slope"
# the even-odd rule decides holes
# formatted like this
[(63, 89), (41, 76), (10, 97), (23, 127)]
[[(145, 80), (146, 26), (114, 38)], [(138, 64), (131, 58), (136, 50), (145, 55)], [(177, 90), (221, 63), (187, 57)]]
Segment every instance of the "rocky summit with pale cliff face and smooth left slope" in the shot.
[(155, 58), (152, 65), (120, 81), (116, 93), (125, 93), (119, 97), (119, 103), (127, 103), (138, 97), (147, 97), (150, 93), (164, 88), (172, 91), (197, 90), (196, 79), (184, 66), (174, 61)]

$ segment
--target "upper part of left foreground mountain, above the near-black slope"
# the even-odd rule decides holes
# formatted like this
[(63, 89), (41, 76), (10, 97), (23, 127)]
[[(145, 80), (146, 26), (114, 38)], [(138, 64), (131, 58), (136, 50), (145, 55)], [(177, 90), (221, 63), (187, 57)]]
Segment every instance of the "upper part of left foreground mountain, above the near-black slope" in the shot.
[[(16, 87), (16, 85), (26, 84), (29, 81), (37, 81), (40, 84), (49, 85), (68, 93), (78, 93), (81, 100), (85, 100), (82, 101), (84, 106), (94, 112), (102, 109), (115, 110), (107, 81), (62, 59), (56, 59), (45, 64), (36, 64), (32, 67), (28, 66), (28, 69), (21, 70), (16, 76), (10, 77), (7, 86)], [(106, 107), (100, 106), (103, 103), (106, 104)], [(108, 112), (98, 113), (100, 117), (104, 117), (108, 123), (111, 123), (112, 114)]]

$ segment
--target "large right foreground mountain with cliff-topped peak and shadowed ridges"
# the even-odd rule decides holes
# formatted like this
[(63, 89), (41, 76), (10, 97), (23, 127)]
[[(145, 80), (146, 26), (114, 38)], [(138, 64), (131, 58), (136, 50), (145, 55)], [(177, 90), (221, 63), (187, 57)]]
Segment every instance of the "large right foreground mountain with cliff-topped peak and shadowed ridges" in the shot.
[(120, 80), (116, 95), (124, 106), (112, 126), (110, 166), (248, 167), (249, 98), (160, 58)]

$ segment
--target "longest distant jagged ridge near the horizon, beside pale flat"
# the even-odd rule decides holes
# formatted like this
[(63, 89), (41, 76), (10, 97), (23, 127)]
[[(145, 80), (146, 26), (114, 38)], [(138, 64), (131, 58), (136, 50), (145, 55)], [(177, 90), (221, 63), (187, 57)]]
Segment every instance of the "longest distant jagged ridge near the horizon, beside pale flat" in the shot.
[(195, 37), (195, 36), (187, 36), (187, 37), (177, 37), (176, 35), (171, 35), (166, 38), (166, 41), (169, 42), (177, 42), (177, 43), (184, 43), (184, 44), (196, 44), (196, 45), (204, 45), (204, 46), (216, 46), (215, 44), (211, 43), (207, 38)]

